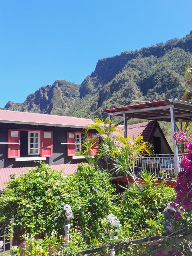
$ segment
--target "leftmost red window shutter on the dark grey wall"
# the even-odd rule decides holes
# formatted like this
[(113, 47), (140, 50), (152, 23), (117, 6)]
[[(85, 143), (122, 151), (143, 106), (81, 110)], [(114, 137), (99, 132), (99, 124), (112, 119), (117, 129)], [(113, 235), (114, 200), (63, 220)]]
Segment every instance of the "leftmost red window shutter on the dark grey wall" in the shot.
[[(20, 130), (8, 129), (8, 142), (20, 143)], [(8, 158), (20, 157), (20, 144), (8, 144)]]

